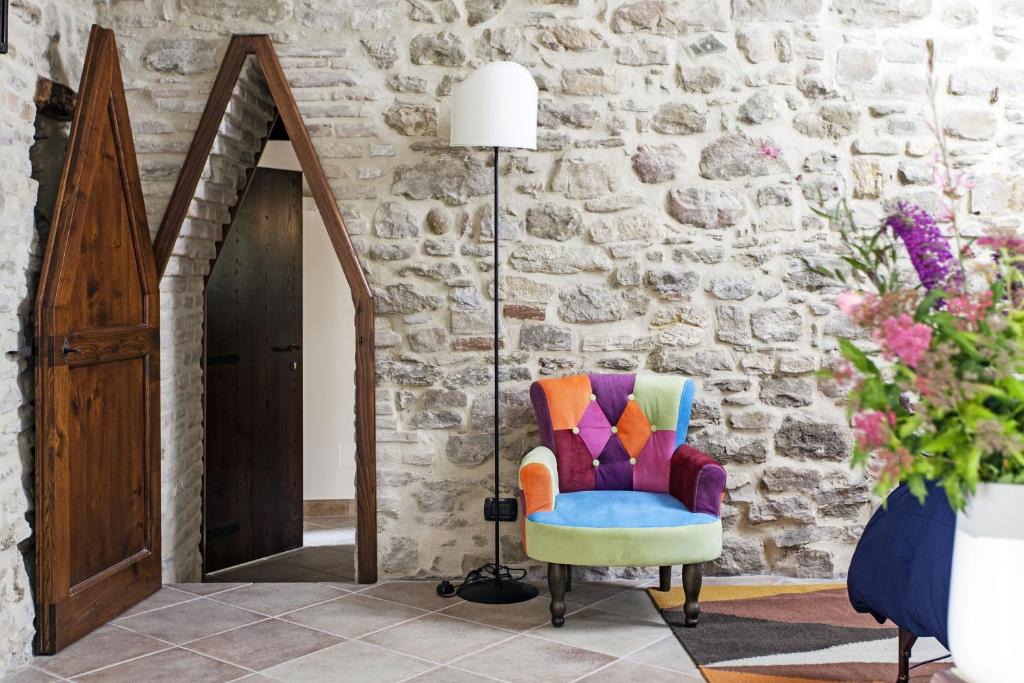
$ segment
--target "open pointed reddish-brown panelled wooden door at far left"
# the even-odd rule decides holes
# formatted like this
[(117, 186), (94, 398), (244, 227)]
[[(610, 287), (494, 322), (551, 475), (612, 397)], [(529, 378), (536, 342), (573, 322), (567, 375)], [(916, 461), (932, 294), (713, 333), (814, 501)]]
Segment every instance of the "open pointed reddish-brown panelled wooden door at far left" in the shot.
[(160, 588), (160, 294), (118, 50), (93, 27), (36, 299), (37, 649)]

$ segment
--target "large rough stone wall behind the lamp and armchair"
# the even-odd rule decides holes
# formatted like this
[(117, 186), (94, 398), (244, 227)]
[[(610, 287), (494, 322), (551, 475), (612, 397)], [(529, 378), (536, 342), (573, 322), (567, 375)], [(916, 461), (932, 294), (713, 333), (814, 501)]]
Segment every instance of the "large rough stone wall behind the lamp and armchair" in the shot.
[[(869, 513), (841, 396), (814, 376), (850, 330), (801, 258), (835, 255), (818, 198), (867, 217), (937, 201), (926, 39), (956, 164), (984, 174), (972, 213), (1024, 201), (1019, 2), (112, 0), (101, 15), (154, 215), (226, 37), (276, 42), (377, 296), (385, 575), (459, 573), (489, 547), (489, 158), (446, 142), (446, 96), (474, 67), (513, 59), (541, 87), (540, 148), (501, 168), (504, 484), (536, 443), (532, 379), (695, 377), (691, 441), (730, 472), (719, 572), (841, 574)], [(165, 304), (165, 329), (198, 335), (199, 305), (197, 290)], [(198, 415), (193, 374), (170, 375), (172, 424)], [(176, 430), (176, 452), (200, 437)], [(189, 460), (165, 498), (198, 477)]]

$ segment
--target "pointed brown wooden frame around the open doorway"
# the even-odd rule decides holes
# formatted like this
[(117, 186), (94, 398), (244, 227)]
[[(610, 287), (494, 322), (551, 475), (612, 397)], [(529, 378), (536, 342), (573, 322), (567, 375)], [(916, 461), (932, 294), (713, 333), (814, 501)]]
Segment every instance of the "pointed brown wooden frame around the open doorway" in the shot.
[[(196, 136), (185, 155), (181, 171), (178, 173), (167, 211), (160, 223), (154, 242), (157, 272), (161, 278), (171, 259), (171, 253), (181, 225), (188, 213), (188, 205), (196, 195), (203, 169), (220, 123), (227, 109), (231, 92), (238, 82), (246, 59), (253, 55), (263, 72), (267, 88), (276, 108), (278, 116), (288, 132), (303, 178), (309, 186), (316, 208), (324, 218), (328, 236), (345, 273), (352, 303), (355, 307), (355, 506), (356, 506), (356, 580), (360, 584), (377, 581), (377, 417), (376, 417), (376, 368), (374, 366), (374, 306), (373, 292), (359, 265), (352, 241), (345, 227), (345, 221), (338, 210), (334, 193), (327, 180), (313, 147), (309, 132), (299, 114), (291, 86), (285, 77), (281, 61), (273, 49), (269, 36), (234, 35), (227, 45), (227, 52), (220, 65), (220, 71), (213, 83), (213, 89), (200, 119)], [(269, 130), (267, 131), (269, 135)], [(266, 143), (264, 138), (262, 144)], [(262, 148), (260, 150), (262, 154)], [(258, 163), (258, 159), (257, 162)], [(255, 169), (255, 163), (253, 166)], [(253, 177), (252, 170), (246, 177), (244, 186), (231, 208), (234, 218)], [(219, 254), (219, 248), (218, 252)], [(216, 257), (214, 257), (214, 262)], [(214, 263), (211, 263), (211, 271)], [(205, 297), (204, 297), (205, 308)], [(341, 381), (344, 381), (343, 379)], [(204, 391), (206, 375), (203, 377)], [(204, 420), (205, 409), (204, 409)], [(204, 439), (204, 449), (205, 449)], [(205, 472), (205, 467), (204, 467)]]

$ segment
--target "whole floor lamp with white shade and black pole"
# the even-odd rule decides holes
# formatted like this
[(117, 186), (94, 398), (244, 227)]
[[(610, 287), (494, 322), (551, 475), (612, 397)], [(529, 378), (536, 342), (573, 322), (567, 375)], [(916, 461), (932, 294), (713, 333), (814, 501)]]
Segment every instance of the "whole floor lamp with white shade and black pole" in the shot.
[(495, 496), (484, 504), (484, 517), (495, 522), (495, 561), (473, 569), (455, 587), (443, 581), (440, 595), (458, 594), (471, 602), (510, 604), (536, 597), (537, 588), (524, 583), (523, 569), (502, 564), (501, 528), (503, 520), (514, 521), (516, 500), (502, 500), (500, 490), (501, 456), (500, 404), (498, 386), (499, 253), (498, 222), (498, 151), (500, 147), (537, 148), (537, 83), (520, 65), (495, 61), (480, 67), (452, 92), (452, 146), (492, 147), (495, 153)]

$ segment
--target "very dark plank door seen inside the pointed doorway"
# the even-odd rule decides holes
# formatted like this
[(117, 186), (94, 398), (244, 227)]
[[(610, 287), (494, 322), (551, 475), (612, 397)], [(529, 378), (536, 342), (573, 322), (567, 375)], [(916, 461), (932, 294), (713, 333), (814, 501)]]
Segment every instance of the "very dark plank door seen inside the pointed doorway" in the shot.
[(259, 168), (207, 286), (205, 568), (302, 545), (302, 174)]

